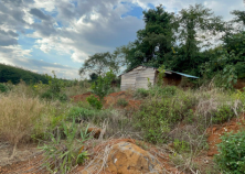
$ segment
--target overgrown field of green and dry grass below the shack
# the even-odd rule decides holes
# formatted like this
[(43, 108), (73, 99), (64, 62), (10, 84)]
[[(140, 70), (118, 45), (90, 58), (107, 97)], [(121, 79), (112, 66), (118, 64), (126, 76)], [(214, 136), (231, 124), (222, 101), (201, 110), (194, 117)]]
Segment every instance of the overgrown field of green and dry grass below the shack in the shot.
[[(130, 138), (143, 142), (139, 145), (146, 150), (147, 145), (142, 144), (162, 150), (168, 146), (169, 163), (185, 173), (231, 170), (224, 164), (232, 162), (228, 156), (223, 162), (209, 157), (209, 163), (196, 159), (206, 157), (210, 149), (207, 129), (243, 115), (245, 94), (242, 91), (156, 86), (149, 90), (126, 91), (130, 100), (141, 101), (137, 109), (127, 107), (129, 101), (121, 98), (114, 106), (96, 109), (86, 100), (73, 102), (70, 99), (89, 91), (88, 84), (62, 87), (58, 91), (53, 90), (52, 85), (42, 84), (4, 86), (7, 90), (0, 93), (0, 140), (12, 144), (10, 159), (17, 155), (20, 145), (39, 143), (45, 156), (42, 162), (45, 168), (51, 173), (67, 173), (77, 164), (88, 164), (89, 154), (83, 151), (88, 142), (97, 145), (111, 139)], [(98, 139), (88, 134), (88, 128), (102, 131)], [(244, 160), (237, 161), (239, 171)]]

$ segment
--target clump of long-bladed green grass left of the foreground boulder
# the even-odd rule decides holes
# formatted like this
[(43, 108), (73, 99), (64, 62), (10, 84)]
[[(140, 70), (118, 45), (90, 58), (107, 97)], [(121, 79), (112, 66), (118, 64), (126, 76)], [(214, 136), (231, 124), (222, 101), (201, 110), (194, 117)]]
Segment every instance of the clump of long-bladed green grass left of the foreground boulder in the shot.
[[(87, 127), (88, 128), (88, 127)], [(76, 139), (77, 127), (73, 119), (71, 127), (64, 122), (62, 124), (66, 140), (61, 140), (61, 134), (55, 138), (51, 134), (51, 142), (40, 146), (44, 151), (45, 166), (51, 173), (68, 173), (73, 166), (83, 163), (88, 153), (83, 151), (84, 142), (88, 140), (87, 129), (85, 132), (81, 131), (81, 139)]]

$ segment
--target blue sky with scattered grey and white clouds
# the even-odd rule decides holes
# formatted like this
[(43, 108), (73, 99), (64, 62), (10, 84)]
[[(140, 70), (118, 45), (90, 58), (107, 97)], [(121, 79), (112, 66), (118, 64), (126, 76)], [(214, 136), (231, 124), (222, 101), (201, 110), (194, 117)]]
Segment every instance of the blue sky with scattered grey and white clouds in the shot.
[(195, 3), (224, 20), (245, 9), (244, 0), (0, 0), (0, 63), (78, 79), (88, 56), (136, 40), (143, 10), (178, 13)]

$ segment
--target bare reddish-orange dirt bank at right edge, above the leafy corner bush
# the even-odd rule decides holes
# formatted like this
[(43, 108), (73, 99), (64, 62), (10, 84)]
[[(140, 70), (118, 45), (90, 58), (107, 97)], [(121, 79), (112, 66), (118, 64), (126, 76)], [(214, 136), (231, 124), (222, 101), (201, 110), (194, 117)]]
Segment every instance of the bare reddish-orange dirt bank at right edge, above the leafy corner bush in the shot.
[(230, 122), (225, 122), (223, 124), (213, 126), (206, 130), (209, 138), (207, 142), (210, 145), (210, 150), (207, 152), (209, 156), (213, 156), (217, 154), (217, 146), (216, 144), (221, 143), (221, 137), (226, 132), (234, 132), (236, 133), (238, 130), (245, 127), (245, 115), (239, 118), (234, 118)]

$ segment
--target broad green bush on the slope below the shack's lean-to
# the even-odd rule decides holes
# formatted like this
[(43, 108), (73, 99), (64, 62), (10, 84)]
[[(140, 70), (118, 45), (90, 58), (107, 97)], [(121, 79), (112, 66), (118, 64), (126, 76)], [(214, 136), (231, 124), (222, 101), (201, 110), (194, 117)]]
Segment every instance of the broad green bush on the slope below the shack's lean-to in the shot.
[(184, 94), (178, 97), (145, 101), (134, 116), (136, 127), (145, 132), (145, 139), (152, 143), (163, 142), (163, 134), (170, 131), (177, 122), (189, 117), (191, 108), (195, 105), (195, 98)]

